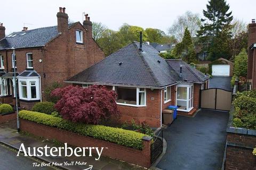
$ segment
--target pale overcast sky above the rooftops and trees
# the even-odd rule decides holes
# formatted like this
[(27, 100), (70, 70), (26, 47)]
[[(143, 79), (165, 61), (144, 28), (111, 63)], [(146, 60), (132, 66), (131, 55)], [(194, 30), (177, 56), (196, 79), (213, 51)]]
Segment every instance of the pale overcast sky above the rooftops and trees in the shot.
[[(234, 18), (249, 23), (256, 18), (255, 0), (227, 0)], [(0, 22), (6, 28), (6, 35), (22, 30), (57, 25), (59, 7), (66, 7), (71, 21), (82, 22), (83, 12), (91, 21), (102, 22), (108, 28), (118, 30), (123, 23), (143, 28), (157, 28), (165, 31), (178, 15), (186, 11), (203, 15), (207, 0), (12, 0), (1, 1)], [(251, 5), (250, 5), (251, 4)]]

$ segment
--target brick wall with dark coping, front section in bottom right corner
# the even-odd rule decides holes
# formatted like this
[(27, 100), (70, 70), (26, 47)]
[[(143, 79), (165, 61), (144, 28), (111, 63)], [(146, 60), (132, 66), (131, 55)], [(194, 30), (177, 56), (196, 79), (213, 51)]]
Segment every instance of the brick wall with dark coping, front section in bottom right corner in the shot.
[(256, 157), (252, 155), (255, 145), (255, 135), (227, 133), (225, 169), (256, 169)]

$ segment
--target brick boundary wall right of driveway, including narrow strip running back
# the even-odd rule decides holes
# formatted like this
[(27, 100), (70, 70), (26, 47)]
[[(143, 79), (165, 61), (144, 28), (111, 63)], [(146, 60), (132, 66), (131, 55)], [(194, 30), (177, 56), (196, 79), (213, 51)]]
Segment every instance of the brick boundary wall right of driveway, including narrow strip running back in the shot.
[(256, 169), (256, 156), (252, 154), (256, 145), (256, 131), (232, 126), (233, 116), (231, 108), (227, 128), (226, 154), (222, 169), (253, 170)]

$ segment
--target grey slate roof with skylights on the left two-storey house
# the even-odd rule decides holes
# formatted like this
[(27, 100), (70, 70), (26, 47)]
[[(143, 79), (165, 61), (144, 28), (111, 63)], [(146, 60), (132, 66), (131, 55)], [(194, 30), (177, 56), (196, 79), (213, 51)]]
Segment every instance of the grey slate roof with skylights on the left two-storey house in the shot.
[[(70, 23), (70, 28), (75, 23)], [(26, 33), (25, 35), (23, 35)], [(57, 26), (37, 28), (28, 31), (12, 32), (10, 35), (16, 35), (14, 37), (8, 37), (0, 40), (0, 50), (5, 48), (29, 48), (29, 47), (41, 47), (47, 44), (50, 40), (58, 36)]]

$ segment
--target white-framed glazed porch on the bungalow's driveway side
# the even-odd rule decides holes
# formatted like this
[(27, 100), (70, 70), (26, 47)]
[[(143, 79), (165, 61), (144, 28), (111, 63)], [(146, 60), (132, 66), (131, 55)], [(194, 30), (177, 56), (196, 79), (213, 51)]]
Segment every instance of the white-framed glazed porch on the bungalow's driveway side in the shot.
[[(178, 99), (178, 87), (186, 87), (187, 88), (187, 99)], [(192, 95), (189, 98), (189, 88), (190, 88), (190, 92), (192, 93)], [(187, 110), (185, 109), (177, 109), (178, 111), (182, 111), (182, 112), (190, 112), (194, 107), (194, 85), (193, 84), (177, 84), (176, 86), (176, 101), (175, 101), (175, 105), (177, 106), (177, 101), (187, 101)], [(189, 102), (192, 100), (192, 104), (191, 107), (189, 107)]]

